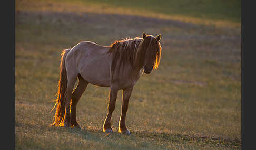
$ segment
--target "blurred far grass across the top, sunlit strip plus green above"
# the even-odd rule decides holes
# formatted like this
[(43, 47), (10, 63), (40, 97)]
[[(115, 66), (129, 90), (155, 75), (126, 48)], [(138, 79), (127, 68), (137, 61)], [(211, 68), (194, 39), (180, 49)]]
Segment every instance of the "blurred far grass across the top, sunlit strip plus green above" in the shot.
[(241, 1), (58, 1), (16, 2), (16, 10), (135, 15), (215, 27), (241, 28)]

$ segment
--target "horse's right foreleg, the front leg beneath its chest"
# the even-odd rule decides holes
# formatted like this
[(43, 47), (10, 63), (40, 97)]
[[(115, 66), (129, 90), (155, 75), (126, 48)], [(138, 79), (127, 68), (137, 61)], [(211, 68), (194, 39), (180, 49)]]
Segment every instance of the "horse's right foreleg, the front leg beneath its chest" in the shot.
[(132, 89), (133, 87), (123, 90), (122, 111), (121, 111), (119, 127), (118, 127), (119, 133), (124, 133), (127, 135), (130, 135), (130, 131), (126, 128), (125, 119), (126, 119), (126, 112), (128, 110), (128, 104), (129, 104), (129, 99), (131, 97)]

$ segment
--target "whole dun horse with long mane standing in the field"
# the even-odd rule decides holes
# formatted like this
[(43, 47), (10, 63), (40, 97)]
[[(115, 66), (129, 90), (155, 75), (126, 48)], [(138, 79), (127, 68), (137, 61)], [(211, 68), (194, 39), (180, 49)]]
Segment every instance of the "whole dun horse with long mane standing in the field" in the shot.
[[(76, 105), (89, 83), (109, 87), (109, 104), (103, 124), (103, 132), (112, 133), (111, 116), (115, 109), (117, 92), (123, 91), (122, 110), (119, 120), (119, 133), (130, 135), (125, 125), (126, 112), (133, 87), (140, 75), (151, 73), (159, 67), (161, 58), (161, 34), (154, 37), (126, 38), (101, 46), (91, 41), (81, 41), (61, 53), (60, 79), (58, 80), (57, 99), (53, 126), (78, 128)], [(78, 84), (73, 91), (75, 82)]]

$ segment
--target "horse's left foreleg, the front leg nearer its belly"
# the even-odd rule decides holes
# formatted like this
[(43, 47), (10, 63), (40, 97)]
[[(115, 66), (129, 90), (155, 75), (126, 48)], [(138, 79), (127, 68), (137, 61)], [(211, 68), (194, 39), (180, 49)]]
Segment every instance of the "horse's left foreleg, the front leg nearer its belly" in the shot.
[(111, 116), (115, 109), (115, 101), (118, 90), (110, 89), (109, 105), (107, 106), (107, 116), (103, 124), (103, 132), (113, 132), (111, 128)]

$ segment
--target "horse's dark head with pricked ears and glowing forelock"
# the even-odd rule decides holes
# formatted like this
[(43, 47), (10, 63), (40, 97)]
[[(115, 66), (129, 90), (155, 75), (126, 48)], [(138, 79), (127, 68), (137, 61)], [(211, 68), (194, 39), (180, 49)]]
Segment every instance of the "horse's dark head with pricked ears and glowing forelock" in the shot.
[(146, 74), (151, 73), (153, 69), (157, 69), (161, 57), (161, 34), (154, 37), (152, 35), (146, 35), (143, 33), (142, 46), (145, 48), (145, 59), (143, 70)]

